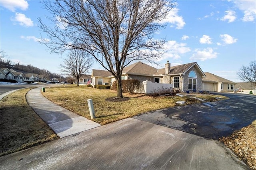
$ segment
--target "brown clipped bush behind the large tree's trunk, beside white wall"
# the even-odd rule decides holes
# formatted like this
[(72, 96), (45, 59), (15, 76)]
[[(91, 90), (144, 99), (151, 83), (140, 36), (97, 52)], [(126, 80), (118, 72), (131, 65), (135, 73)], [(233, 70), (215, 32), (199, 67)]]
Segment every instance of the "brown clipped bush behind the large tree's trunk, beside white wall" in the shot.
[[(129, 92), (130, 94), (134, 93), (135, 90), (138, 90), (140, 87), (140, 81), (137, 79), (128, 79), (122, 80), (122, 92)], [(112, 90), (117, 90), (116, 81), (112, 84)]]

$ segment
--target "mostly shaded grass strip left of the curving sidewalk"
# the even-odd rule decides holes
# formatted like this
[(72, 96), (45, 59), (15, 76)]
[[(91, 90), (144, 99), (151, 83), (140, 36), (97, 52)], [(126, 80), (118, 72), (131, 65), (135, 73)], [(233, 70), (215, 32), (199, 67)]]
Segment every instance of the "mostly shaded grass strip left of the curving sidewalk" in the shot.
[(0, 101), (0, 156), (58, 138), (27, 104), (30, 89), (15, 91)]

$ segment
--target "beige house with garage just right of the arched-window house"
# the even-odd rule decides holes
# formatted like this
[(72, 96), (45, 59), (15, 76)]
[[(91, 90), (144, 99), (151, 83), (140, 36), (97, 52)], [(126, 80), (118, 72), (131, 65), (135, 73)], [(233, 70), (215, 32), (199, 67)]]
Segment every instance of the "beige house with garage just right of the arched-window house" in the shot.
[(212, 73), (204, 73), (206, 77), (202, 80), (202, 90), (217, 92), (233, 92), (235, 84), (233, 81), (224, 79)]

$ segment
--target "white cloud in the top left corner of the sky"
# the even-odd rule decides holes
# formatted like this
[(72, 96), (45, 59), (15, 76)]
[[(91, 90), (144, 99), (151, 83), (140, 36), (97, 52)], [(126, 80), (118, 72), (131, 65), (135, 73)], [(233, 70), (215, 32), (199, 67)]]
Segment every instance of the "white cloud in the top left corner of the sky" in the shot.
[(27, 10), (28, 2), (26, 0), (1, 0), (1, 6), (15, 12), (16, 9)]

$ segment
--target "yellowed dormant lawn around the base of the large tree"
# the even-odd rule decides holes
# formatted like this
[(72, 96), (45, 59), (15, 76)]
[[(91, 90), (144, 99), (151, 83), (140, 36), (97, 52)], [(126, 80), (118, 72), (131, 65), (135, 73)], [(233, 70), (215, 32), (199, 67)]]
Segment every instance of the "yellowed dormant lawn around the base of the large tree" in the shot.
[(205, 99), (205, 101), (216, 101), (216, 97), (227, 99), (224, 96), (208, 95), (208, 94), (190, 94), (184, 97), (174, 96), (152, 96), (145, 94), (123, 93), (123, 99), (117, 100), (116, 91), (113, 90), (99, 90), (86, 86), (74, 87), (46, 87), (46, 92), (42, 93), (50, 101), (78, 114), (87, 119), (90, 119), (90, 112), (88, 109), (88, 99), (92, 99), (96, 119), (93, 121), (101, 125), (133, 117), (135, 115), (174, 107), (176, 101), (186, 101), (186, 104), (202, 103), (198, 99), (191, 97), (198, 97)]

